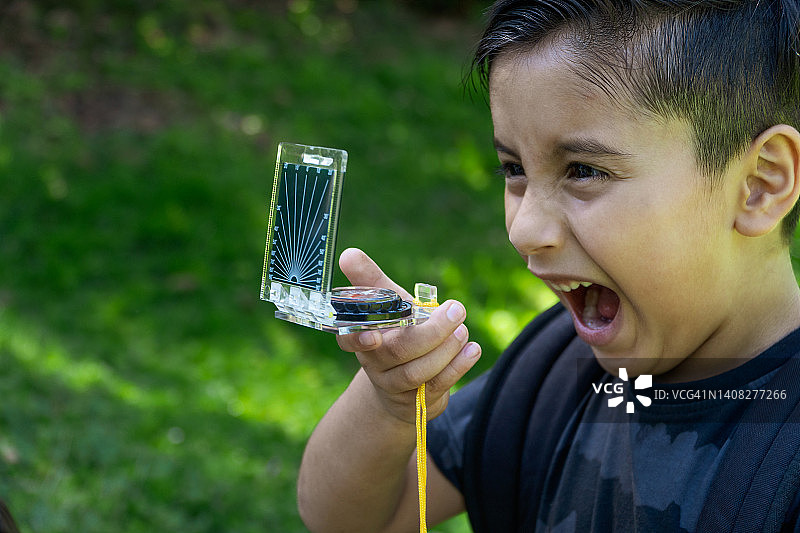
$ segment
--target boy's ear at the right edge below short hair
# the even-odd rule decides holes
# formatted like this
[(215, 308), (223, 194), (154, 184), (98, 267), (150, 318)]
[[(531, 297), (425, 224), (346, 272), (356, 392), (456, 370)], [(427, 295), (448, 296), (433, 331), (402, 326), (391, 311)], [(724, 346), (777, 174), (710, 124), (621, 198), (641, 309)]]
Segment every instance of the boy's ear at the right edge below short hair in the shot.
[(772, 126), (756, 137), (743, 162), (734, 227), (759, 237), (780, 226), (800, 195), (800, 133), (786, 124)]

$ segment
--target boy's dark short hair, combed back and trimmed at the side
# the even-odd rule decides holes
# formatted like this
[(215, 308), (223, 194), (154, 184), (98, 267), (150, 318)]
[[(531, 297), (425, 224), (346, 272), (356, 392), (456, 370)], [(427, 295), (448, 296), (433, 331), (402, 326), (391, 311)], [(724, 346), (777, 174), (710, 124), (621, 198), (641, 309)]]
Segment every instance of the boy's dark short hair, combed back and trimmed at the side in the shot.
[[(712, 183), (765, 129), (800, 129), (798, 0), (499, 0), (472, 70), (488, 88), (499, 54), (553, 37), (611, 97), (687, 120)], [(798, 215), (800, 203), (783, 221), (787, 242)]]

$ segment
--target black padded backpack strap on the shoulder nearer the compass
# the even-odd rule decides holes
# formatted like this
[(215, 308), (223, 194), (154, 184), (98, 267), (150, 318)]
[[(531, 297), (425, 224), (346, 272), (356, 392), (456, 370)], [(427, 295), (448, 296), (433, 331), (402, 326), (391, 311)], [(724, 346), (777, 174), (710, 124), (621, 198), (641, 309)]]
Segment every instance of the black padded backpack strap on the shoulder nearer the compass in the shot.
[[(478, 400), (464, 448), (464, 500), (473, 531), (520, 530), (532, 511), (529, 502), (541, 499), (531, 490), (540, 493), (542, 485), (521, 479), (525, 443), (536, 442), (535, 455), (525, 456), (525, 476), (544, 479), (578, 391), (602, 373), (561, 304), (539, 315), (504, 352)], [(563, 401), (537, 403), (540, 396)], [(537, 428), (535, 436), (529, 427)]]

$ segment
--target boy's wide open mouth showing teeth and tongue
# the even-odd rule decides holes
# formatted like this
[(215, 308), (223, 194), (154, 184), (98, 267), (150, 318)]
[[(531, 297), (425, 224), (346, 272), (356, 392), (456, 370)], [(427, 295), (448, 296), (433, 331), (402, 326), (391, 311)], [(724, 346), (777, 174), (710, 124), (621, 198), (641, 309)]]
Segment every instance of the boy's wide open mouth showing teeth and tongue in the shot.
[(608, 287), (588, 281), (551, 282), (550, 285), (564, 295), (572, 315), (589, 329), (605, 328), (619, 313), (619, 296)]

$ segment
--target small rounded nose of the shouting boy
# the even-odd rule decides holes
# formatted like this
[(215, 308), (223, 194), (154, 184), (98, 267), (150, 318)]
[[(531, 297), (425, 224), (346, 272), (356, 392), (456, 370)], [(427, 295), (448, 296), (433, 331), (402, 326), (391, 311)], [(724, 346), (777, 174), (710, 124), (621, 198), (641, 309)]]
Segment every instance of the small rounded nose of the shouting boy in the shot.
[(564, 221), (556, 199), (530, 186), (522, 198), (506, 198), (506, 229), (522, 255), (542, 254), (564, 244)]

